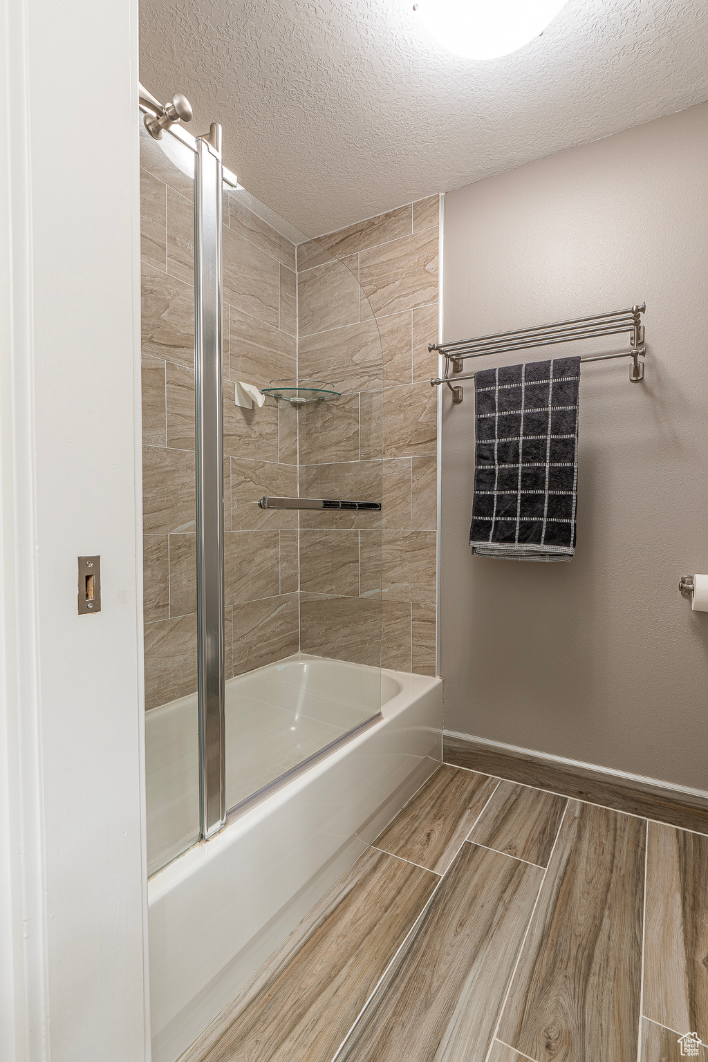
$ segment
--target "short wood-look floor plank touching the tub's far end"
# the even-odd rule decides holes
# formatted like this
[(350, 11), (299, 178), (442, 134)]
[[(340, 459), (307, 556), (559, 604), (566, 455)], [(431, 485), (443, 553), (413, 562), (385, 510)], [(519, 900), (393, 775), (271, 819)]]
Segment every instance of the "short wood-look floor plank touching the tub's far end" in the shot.
[(374, 846), (444, 874), (499, 783), (485, 774), (461, 774), (439, 767)]

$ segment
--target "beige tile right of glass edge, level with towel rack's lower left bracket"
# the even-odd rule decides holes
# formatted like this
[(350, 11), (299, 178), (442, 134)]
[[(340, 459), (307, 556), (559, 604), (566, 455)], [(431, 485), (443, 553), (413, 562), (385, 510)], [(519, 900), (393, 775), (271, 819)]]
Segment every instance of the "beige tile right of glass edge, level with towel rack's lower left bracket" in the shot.
[(383, 392), (384, 458), (433, 456), (437, 439), (437, 395), (430, 383)]

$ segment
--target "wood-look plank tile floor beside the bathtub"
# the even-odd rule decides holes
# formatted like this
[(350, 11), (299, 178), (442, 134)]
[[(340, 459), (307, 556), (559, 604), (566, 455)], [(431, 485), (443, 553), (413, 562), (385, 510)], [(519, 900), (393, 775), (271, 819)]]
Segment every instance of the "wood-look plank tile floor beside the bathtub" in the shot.
[(182, 1062), (708, 1062), (691, 1034), (708, 836), (444, 764)]

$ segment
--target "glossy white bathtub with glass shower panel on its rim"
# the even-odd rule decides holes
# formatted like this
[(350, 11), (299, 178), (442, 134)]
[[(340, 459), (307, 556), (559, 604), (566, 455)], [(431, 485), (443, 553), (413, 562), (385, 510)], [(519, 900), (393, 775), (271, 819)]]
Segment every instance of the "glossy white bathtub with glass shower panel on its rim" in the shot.
[[(306, 755), (301, 748), (299, 763), (279, 760), (290, 775), (261, 787), (217, 837), (193, 844), (150, 879), (153, 1062), (179, 1057), (442, 759), (439, 679), (297, 654), (227, 683), (227, 716), (229, 695), (231, 704), (252, 695), (261, 706), (258, 698), (276, 699), (299, 719), (318, 713), (333, 732), (324, 751)], [(148, 714), (148, 744), (172, 754), (189, 787), (196, 785), (194, 705), (183, 702)], [(239, 772), (229, 799), (228, 766), (243, 742), (232, 730), (229, 738), (227, 718), (227, 802), (238, 804)], [(160, 757), (152, 758), (150, 825), (162, 829), (162, 841), (184, 844), (196, 813), (194, 791), (175, 804), (182, 790), (174, 770), (168, 777)], [(247, 787), (257, 782), (258, 771)]]

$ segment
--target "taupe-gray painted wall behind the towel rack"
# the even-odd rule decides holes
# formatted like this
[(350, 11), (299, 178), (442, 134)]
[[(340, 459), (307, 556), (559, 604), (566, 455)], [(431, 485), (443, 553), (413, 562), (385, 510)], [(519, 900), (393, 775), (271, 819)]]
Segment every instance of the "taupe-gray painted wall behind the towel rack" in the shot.
[(583, 366), (569, 564), (470, 555), (473, 383), (446, 389), (441, 538), (448, 730), (702, 789), (708, 613), (677, 585), (708, 571), (707, 160), (701, 104), (446, 195), (446, 340), (645, 301), (649, 353), (643, 383)]

